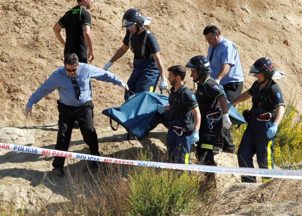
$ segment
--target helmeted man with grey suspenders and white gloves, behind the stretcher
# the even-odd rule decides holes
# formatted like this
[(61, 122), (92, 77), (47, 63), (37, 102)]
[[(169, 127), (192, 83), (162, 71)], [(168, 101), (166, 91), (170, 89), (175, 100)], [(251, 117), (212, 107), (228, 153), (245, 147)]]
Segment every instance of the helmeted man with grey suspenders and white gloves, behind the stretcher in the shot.
[[(160, 78), (160, 90), (168, 89), (168, 80), (159, 54), (155, 36), (143, 26), (151, 24), (150, 17), (143, 17), (136, 9), (128, 9), (122, 19), (122, 29), (126, 31), (123, 45), (103, 67), (109, 71), (113, 63), (120, 59), (129, 48), (134, 53), (133, 71), (127, 82), (132, 93), (154, 92)], [(125, 100), (128, 99), (125, 93)]]

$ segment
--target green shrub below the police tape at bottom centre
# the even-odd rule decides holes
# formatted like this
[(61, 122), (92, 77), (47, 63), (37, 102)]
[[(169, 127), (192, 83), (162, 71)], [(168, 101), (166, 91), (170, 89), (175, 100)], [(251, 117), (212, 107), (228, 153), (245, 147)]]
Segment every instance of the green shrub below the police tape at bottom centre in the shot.
[(137, 168), (130, 176), (131, 215), (180, 215), (196, 207), (199, 185), (186, 172)]

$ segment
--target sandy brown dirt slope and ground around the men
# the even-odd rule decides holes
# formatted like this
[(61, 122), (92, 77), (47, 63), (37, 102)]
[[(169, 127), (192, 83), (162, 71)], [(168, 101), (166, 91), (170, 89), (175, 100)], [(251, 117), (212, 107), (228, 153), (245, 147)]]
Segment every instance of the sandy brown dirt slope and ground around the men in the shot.
[[(256, 59), (267, 56), (273, 60), (278, 70), (286, 72), (286, 76), (277, 81), (285, 95), (285, 100), (288, 101), (292, 97), (291, 91), (296, 92), (298, 99), (301, 98), (301, 1), (106, 0), (95, 2), (90, 11), (96, 53), (93, 62), (95, 66), (102, 68), (122, 44), (125, 32), (120, 31), (121, 17), (126, 9), (133, 7), (143, 15), (148, 14), (153, 18), (149, 29), (158, 39), (165, 68), (175, 64), (184, 65), (196, 54), (206, 55), (208, 45), (204, 41), (202, 30), (207, 24), (214, 23), (220, 27), (222, 34), (238, 47), (245, 73), (245, 89), (253, 82), (253, 77), (247, 76), (250, 66)], [(0, 68), (2, 69), (0, 103), (3, 105), (0, 111), (0, 127), (29, 127), (17, 128), (15, 133), (19, 135), (2, 134), (1, 141), (10, 140), (15, 144), (54, 148), (57, 127), (55, 101), (58, 99), (58, 93), (48, 95), (35, 105), (33, 117), (29, 120), (25, 120), (22, 116), (22, 109), (31, 93), (54, 69), (62, 65), (63, 48), (55, 39), (52, 27), (66, 10), (75, 5), (76, 1), (62, 0), (0, 1)], [(128, 52), (114, 64), (111, 71), (127, 81), (131, 74), (132, 58), (133, 54)], [(186, 81), (192, 85), (189, 76), (186, 77)], [(154, 153), (165, 151), (163, 145), (165, 132), (162, 127), (151, 133), (150, 139), (135, 143), (133, 146), (125, 142), (124, 130), (113, 133), (107, 128), (108, 118), (101, 112), (105, 108), (120, 105), (123, 101), (123, 91), (117, 86), (97, 81), (92, 81), (92, 88), (95, 124), (100, 151), (103, 154), (131, 158), (134, 149), (146, 146), (151, 146)], [(298, 100), (298, 109), (302, 111), (301, 100)], [(70, 151), (87, 152), (87, 146), (83, 143), (79, 131), (75, 131)], [(21, 200), (31, 200), (34, 197), (32, 201), (34, 206), (41, 207), (51, 194), (54, 194), (53, 198), (59, 196), (58, 185), (63, 182), (53, 179), (48, 174), (52, 158), (4, 151), (0, 153), (2, 203), (8, 204), (9, 201), (20, 203)], [(234, 156), (226, 154), (218, 160), (221, 166), (227, 166), (226, 161), (230, 166), (237, 166)], [(67, 166), (70, 170), (81, 167), (86, 171), (85, 164), (82, 162), (67, 160)], [(218, 178), (221, 185), (229, 182), (224, 191), (228, 191), (231, 185), (239, 182), (238, 176), (229, 177)], [(214, 208), (213, 215), (231, 213), (261, 215), (265, 213), (266, 210), (263, 209), (266, 209), (266, 206), (270, 204), (275, 207), (278, 203), (281, 204), (276, 212), (286, 213), (282, 211), (283, 208), (289, 209), (288, 215), (301, 215), (301, 211), (297, 211), (301, 206), (301, 196), (298, 196), (301, 194), (301, 182), (283, 180), (279, 184), (279, 181), (273, 181), (265, 186), (266, 188), (263, 187), (263, 185), (257, 187), (239, 185), (239, 191), (233, 190), (225, 194), (222, 192), (220, 206)], [(270, 187), (272, 189), (268, 190)], [(265, 195), (264, 202), (261, 194), (266, 194), (266, 191), (268, 195)], [(271, 191), (277, 192), (271, 196)], [(258, 193), (263, 202), (257, 201)], [(283, 196), (292, 193), (297, 196)], [(274, 199), (267, 198), (268, 196)], [(66, 197), (63, 196), (62, 199), (64, 198)], [(6, 207), (4, 204), (3, 208)], [(258, 206), (255, 207), (255, 204)], [(255, 209), (260, 210), (257, 212)]]

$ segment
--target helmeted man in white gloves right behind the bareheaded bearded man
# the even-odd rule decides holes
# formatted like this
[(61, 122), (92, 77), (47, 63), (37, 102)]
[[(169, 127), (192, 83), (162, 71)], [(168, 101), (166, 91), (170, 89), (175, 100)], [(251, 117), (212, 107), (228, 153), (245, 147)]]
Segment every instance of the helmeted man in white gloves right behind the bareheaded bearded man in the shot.
[(197, 55), (186, 65), (191, 77), (198, 83), (195, 93), (201, 114), (199, 141), (196, 155), (201, 164), (215, 165), (213, 148), (217, 143), (222, 127), (230, 128), (232, 122), (228, 115), (226, 97), (221, 88), (210, 77), (210, 62), (207, 57)]

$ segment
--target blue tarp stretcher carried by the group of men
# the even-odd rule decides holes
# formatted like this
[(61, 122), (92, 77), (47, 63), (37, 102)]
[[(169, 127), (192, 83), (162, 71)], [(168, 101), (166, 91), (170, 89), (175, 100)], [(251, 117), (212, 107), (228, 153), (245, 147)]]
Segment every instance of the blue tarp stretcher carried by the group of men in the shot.
[[(103, 110), (102, 113), (110, 117), (112, 129), (114, 129), (112, 127), (112, 120), (114, 120), (127, 130), (129, 136), (141, 140), (159, 123), (163, 123), (165, 127), (168, 127), (169, 111), (162, 115), (157, 111), (159, 105), (168, 103), (168, 96), (166, 95), (154, 92), (141, 92), (131, 95), (121, 106)], [(229, 116), (234, 125), (246, 123), (234, 107), (230, 108)]]

